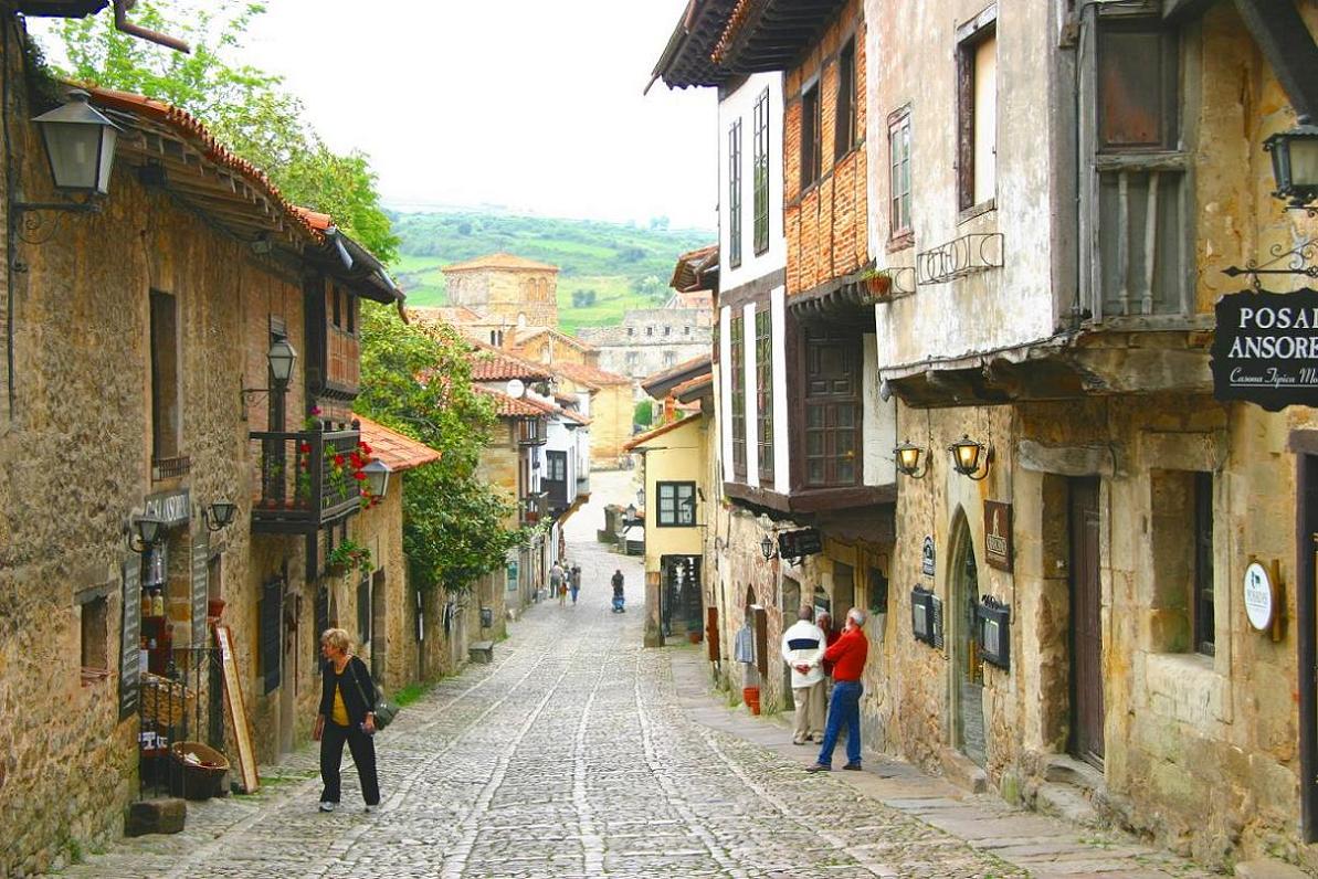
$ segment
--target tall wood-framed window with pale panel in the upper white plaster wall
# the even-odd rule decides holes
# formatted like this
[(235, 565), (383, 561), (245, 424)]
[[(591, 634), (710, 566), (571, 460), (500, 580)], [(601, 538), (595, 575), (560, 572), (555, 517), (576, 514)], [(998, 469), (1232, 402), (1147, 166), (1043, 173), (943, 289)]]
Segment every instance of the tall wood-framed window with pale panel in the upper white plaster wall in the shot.
[(998, 7), (957, 29), (957, 194), (982, 211), (998, 188)]

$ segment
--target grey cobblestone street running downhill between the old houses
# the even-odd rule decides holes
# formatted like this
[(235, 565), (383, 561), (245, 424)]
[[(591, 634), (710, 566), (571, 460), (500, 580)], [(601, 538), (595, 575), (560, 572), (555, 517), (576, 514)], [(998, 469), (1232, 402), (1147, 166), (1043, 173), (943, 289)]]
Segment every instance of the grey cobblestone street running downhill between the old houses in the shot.
[[(855, 774), (807, 775), (808, 749), (751, 741), (786, 741), (776, 723), (737, 734), (750, 721), (704, 697), (689, 648), (641, 648), (641, 564), (590, 542), (597, 517), (583, 514), (568, 551), (584, 569), (580, 604), (531, 609), (493, 664), (468, 667), (398, 716), (377, 739), (380, 812), (364, 813), (347, 755), (343, 805), (316, 812), (315, 751), (303, 749), (262, 771), (258, 795), (188, 804), (182, 834), (123, 841), (63, 875), (1028, 875), (983, 842), (866, 795)], [(626, 614), (609, 610), (614, 568), (626, 575)], [(937, 783), (909, 779), (920, 796)], [(961, 814), (960, 803), (923, 803)], [(1028, 841), (1036, 855), (1040, 846), (1056, 849), (1053, 838)], [(1097, 836), (1086, 846), (1065, 872), (1111, 870), (1123, 854)], [(1108, 875), (1173, 875), (1152, 861), (1166, 863), (1118, 861)]]

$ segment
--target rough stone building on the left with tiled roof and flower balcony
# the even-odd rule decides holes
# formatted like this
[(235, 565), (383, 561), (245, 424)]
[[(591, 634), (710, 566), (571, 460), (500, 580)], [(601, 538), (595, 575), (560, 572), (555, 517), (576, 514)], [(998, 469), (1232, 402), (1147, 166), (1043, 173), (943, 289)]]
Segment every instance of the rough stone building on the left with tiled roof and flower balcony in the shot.
[[(54, 223), (50, 165), (24, 120), (62, 90), (22, 70), (14, 11), (0, 87), (5, 210), (21, 235), (0, 298), (13, 365), (0, 444), (24, 464), (0, 480), (4, 875), (120, 830), (138, 793), (140, 647), (149, 672), (188, 671), (219, 602), (257, 755), (310, 725), (319, 572), (307, 560), (358, 507), (328, 502), (326, 449), (357, 440), (357, 302), (397, 299), (328, 217), (289, 204), (186, 113), (134, 95), (90, 95), (120, 129), (108, 194)], [(28, 220), (46, 225), (33, 235)], [(286, 386), (272, 381), (283, 345), (297, 354)], [(157, 542), (138, 543), (142, 523)], [(144, 588), (163, 613), (142, 606)]]

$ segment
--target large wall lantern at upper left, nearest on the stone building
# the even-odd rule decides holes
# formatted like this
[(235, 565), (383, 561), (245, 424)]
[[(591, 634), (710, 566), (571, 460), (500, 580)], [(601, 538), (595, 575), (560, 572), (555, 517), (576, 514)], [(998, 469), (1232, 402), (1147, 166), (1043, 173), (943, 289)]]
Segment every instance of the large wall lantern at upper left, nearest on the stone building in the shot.
[(69, 103), (32, 121), (41, 129), (55, 188), (107, 195), (119, 127), (92, 107), (88, 98), (74, 88)]

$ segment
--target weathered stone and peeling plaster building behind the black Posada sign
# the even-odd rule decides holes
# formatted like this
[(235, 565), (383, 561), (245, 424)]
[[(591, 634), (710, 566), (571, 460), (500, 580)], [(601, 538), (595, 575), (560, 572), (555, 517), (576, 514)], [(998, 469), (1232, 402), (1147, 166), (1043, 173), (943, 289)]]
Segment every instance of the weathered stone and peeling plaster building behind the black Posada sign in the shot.
[[(1223, 270), (1314, 236), (1261, 145), (1315, 109), (1318, 11), (865, 5), (913, 24), (869, 36), (866, 149), (876, 374), (921, 457), (874, 742), (1214, 867), (1315, 868), (1314, 415), (1219, 402), (1209, 345)], [(1293, 625), (1251, 626), (1252, 559)]]

